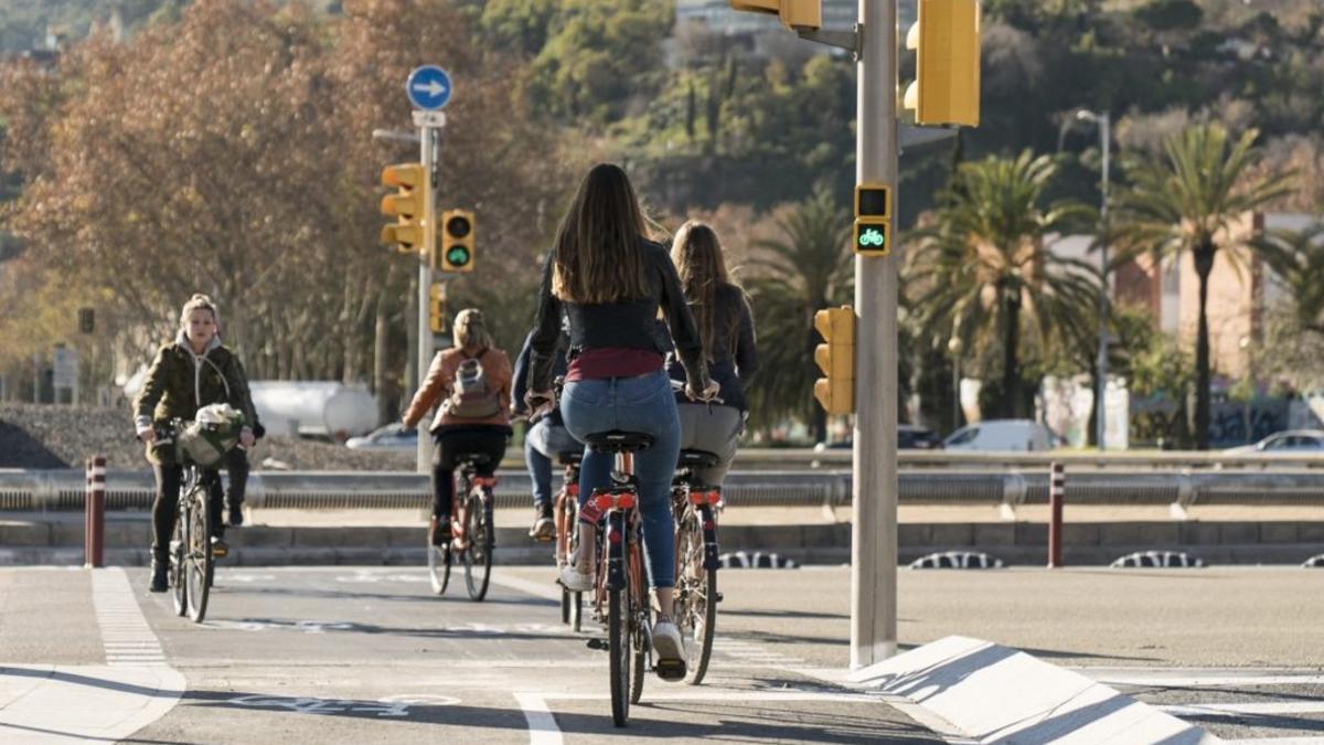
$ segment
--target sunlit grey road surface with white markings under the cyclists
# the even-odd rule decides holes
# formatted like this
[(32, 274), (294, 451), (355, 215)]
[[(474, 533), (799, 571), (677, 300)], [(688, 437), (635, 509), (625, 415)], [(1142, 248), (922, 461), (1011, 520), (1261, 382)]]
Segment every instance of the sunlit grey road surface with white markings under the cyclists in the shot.
[[(620, 733), (605, 655), (559, 623), (545, 567), (500, 567), (483, 603), (463, 598), (462, 583), (436, 598), (413, 569), (222, 569), (203, 626), (175, 616), (167, 595), (148, 597), (144, 570), (123, 578), (118, 569), (0, 570), (0, 663), (9, 665), (0, 695), (15, 671), (61, 665), (78, 671), (69, 679), (81, 687), (115, 688), (107, 681), (134, 669), (126, 665), (160, 660), (181, 676), (183, 696), (131, 741), (605, 742)], [(849, 659), (845, 567), (722, 578), (710, 683), (650, 679), (628, 734), (935, 741), (906, 712), (835, 684)], [(996, 640), (1219, 737), (1324, 742), (1324, 573), (902, 571), (900, 597), (907, 647), (949, 634)], [(126, 599), (140, 608), (140, 628), (126, 626)], [(17, 741), (61, 732), (61, 718), (25, 726)]]

